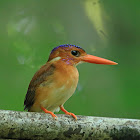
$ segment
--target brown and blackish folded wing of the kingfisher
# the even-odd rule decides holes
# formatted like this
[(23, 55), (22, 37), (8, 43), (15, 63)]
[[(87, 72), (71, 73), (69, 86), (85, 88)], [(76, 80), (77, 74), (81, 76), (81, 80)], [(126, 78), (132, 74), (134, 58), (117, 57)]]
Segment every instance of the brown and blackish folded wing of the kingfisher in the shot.
[(30, 110), (35, 101), (36, 88), (44, 81), (47, 81), (47, 79), (49, 79), (48, 77), (54, 73), (54, 70), (55, 66), (53, 64), (45, 64), (40, 68), (39, 71), (35, 73), (29, 84), (28, 91), (24, 100), (24, 110)]

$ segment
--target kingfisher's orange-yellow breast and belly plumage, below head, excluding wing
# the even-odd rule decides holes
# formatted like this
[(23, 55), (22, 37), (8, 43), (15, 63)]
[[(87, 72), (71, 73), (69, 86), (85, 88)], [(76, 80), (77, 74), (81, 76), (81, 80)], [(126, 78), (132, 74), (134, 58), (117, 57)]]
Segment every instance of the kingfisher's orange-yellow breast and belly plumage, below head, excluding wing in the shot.
[(57, 62), (57, 65), (55, 63), (49, 65), (41, 74), (46, 76), (42, 82), (38, 81), (34, 103), (29, 111), (42, 111), (40, 106), (52, 112), (59, 111), (59, 106), (63, 105), (75, 92), (79, 79), (77, 68), (65, 65), (62, 61)]

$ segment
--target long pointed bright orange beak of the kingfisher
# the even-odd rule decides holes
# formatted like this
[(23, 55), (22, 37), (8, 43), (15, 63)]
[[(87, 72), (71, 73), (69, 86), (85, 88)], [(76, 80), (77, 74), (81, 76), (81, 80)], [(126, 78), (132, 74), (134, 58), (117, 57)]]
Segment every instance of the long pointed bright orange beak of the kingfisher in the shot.
[(93, 56), (93, 55), (85, 55), (82, 58), (82, 61), (84, 62), (88, 62), (88, 63), (94, 63), (94, 64), (103, 64), (103, 65), (117, 65), (118, 63), (104, 59), (104, 58), (100, 58), (97, 56)]

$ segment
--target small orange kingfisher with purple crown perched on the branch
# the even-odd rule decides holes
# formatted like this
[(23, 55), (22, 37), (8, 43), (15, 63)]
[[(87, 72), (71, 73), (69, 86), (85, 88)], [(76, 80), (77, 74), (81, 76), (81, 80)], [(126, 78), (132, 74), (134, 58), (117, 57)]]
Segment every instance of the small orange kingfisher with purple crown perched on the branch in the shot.
[(116, 62), (89, 55), (79, 46), (60, 45), (54, 48), (45, 65), (33, 76), (24, 100), (24, 110), (49, 113), (60, 109), (67, 115), (75, 114), (64, 109), (64, 103), (72, 96), (78, 84), (79, 73), (76, 66), (80, 63), (117, 65)]

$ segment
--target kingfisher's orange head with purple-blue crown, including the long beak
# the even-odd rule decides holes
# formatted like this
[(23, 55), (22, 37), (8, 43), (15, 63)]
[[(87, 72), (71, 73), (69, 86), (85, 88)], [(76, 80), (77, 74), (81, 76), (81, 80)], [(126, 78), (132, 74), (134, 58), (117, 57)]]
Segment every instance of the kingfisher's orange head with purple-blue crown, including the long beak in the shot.
[(48, 62), (58, 60), (64, 61), (66, 64), (74, 66), (82, 62), (104, 65), (117, 65), (116, 62), (89, 55), (85, 52), (84, 49), (75, 45), (60, 45), (54, 48), (49, 56)]

